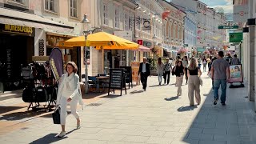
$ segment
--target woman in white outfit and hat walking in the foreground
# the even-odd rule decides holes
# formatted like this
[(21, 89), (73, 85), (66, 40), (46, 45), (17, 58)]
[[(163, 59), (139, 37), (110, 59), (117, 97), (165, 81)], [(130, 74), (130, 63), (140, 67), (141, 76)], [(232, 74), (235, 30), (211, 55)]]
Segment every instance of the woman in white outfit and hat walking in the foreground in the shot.
[(78, 66), (74, 62), (66, 64), (66, 74), (62, 75), (58, 85), (57, 105), (61, 107), (61, 125), (62, 132), (58, 134), (59, 138), (66, 135), (66, 106), (70, 105), (71, 114), (77, 119), (77, 129), (80, 128), (80, 118), (77, 112), (78, 102), (82, 105), (82, 93), (79, 85), (79, 76), (76, 74)]

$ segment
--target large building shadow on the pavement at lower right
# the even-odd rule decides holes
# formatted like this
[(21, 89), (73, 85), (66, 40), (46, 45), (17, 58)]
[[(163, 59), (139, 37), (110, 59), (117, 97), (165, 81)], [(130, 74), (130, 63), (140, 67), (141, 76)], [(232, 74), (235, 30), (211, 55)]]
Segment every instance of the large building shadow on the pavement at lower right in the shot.
[[(209, 81), (209, 80), (208, 80)], [(228, 85), (227, 85), (228, 87)], [(221, 90), (218, 91), (221, 95)], [(226, 106), (218, 101), (213, 104), (213, 92), (210, 91), (202, 106), (198, 106), (196, 117), (192, 120), (183, 142), (193, 144), (226, 143), (226, 144), (253, 144), (256, 142), (253, 102), (249, 102), (246, 88), (226, 89)], [(178, 111), (194, 110), (196, 107), (180, 107)], [(251, 131), (251, 132), (250, 132)], [(246, 136), (245, 136), (246, 135)]]

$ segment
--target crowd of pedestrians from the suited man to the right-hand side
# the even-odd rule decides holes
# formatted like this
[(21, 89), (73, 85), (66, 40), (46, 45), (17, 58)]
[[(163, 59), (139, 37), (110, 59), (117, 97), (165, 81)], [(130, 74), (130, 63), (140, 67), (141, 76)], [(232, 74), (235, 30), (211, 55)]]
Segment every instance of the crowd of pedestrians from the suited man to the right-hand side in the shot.
[[(182, 83), (183, 79), (188, 85), (188, 98), (190, 106), (194, 106), (194, 98), (198, 105), (201, 102), (200, 86), (202, 86), (202, 72), (208, 70), (207, 75), (212, 79), (212, 90), (214, 91), (214, 105), (218, 102), (218, 90), (221, 87), (222, 94), (220, 101), (222, 106), (226, 105), (226, 83), (230, 82), (230, 65), (241, 64), (238, 56), (234, 54), (234, 58), (230, 54), (219, 51), (218, 55), (206, 56), (202, 58), (183, 58), (178, 55), (174, 60), (174, 66), (170, 63), (170, 59), (166, 58), (166, 62), (162, 62), (162, 58), (158, 58), (157, 62), (157, 74), (158, 85), (169, 85), (170, 74), (176, 77), (175, 86), (177, 89), (177, 96), (182, 95)], [(202, 71), (201, 71), (202, 66)], [(206, 69), (208, 67), (208, 69)], [(143, 90), (146, 90), (147, 77), (150, 76), (150, 64), (146, 62), (146, 58), (143, 58), (143, 62), (139, 67), (139, 73), (141, 74), (141, 82)], [(163, 82), (162, 82), (163, 78)]]

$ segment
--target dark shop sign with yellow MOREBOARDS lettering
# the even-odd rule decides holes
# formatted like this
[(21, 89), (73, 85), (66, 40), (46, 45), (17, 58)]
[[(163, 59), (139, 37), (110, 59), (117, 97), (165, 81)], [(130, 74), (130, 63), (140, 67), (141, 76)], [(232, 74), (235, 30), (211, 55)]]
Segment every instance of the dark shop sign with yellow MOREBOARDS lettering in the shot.
[(34, 28), (29, 26), (16, 26), (8, 24), (0, 24), (0, 32), (26, 34), (34, 37)]

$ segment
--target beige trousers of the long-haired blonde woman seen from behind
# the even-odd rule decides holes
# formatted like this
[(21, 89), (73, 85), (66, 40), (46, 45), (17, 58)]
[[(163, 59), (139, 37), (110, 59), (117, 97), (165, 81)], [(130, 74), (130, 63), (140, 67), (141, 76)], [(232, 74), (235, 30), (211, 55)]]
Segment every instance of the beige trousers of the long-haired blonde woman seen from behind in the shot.
[(198, 78), (198, 75), (190, 75), (189, 81), (189, 100), (190, 100), (190, 106), (194, 105), (194, 91), (195, 91), (195, 101), (200, 104), (201, 102), (201, 96), (200, 96), (200, 81)]

